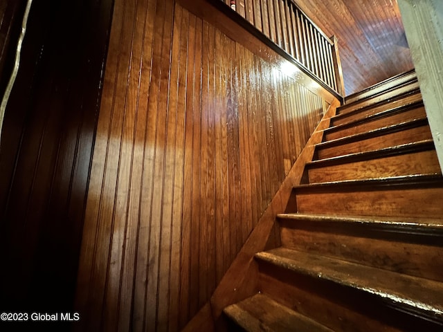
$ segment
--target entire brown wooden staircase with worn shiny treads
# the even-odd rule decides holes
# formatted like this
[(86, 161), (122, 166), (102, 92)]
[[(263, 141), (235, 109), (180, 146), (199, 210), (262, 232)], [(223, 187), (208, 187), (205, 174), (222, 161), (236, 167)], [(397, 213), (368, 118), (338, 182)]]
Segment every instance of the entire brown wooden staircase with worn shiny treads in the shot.
[(443, 331), (443, 178), (413, 72), (347, 98), (258, 252), (239, 331)]

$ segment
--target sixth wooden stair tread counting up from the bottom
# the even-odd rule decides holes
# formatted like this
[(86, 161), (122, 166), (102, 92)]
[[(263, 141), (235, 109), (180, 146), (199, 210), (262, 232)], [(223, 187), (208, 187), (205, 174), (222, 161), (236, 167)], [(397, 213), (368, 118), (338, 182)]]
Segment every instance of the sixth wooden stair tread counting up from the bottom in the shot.
[(382, 127), (382, 128), (378, 128), (378, 129), (373, 129), (370, 131), (366, 131), (364, 133), (356, 133), (354, 135), (344, 136), (341, 138), (336, 138), (334, 140), (327, 140), (325, 142), (318, 143), (316, 145), (316, 147), (322, 148), (322, 147), (338, 146), (338, 145), (341, 145), (345, 142), (355, 142), (357, 140), (363, 140), (365, 138), (381, 136), (385, 133), (402, 131), (405, 129), (424, 126), (424, 125), (426, 125), (426, 126), (428, 125), (428, 119), (426, 117), (417, 118), (417, 119), (413, 119), (413, 120), (400, 122), (398, 124), (392, 124), (390, 126), (386, 126), (386, 127)]

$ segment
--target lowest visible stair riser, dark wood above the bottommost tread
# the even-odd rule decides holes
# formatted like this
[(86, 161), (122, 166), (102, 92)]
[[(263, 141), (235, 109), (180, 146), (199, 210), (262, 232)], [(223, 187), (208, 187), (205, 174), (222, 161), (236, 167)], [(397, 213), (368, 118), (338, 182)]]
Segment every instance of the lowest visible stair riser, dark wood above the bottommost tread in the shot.
[(405, 331), (406, 326), (424, 331), (418, 330), (424, 325), (426, 331), (438, 331), (434, 324), (395, 311), (379, 298), (334, 284), (320, 275), (313, 278), (260, 263), (259, 287), (275, 301), (334, 331)]

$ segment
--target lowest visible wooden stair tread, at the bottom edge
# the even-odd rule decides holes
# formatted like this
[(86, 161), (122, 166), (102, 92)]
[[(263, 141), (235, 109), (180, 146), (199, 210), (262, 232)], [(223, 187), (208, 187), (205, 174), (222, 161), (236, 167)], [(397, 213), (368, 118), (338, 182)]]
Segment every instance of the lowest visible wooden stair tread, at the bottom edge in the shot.
[(248, 332), (332, 331), (260, 293), (226, 307), (224, 313)]

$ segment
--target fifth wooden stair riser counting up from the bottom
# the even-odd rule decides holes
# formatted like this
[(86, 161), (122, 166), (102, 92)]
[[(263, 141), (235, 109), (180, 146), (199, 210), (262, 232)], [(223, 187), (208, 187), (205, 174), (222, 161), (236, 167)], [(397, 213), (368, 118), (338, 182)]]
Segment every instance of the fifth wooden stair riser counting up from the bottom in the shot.
[(351, 140), (350, 142), (345, 141), (340, 145), (318, 145), (314, 160), (333, 158), (345, 154), (356, 154), (430, 139), (432, 139), (431, 130), (429, 130), (428, 124), (424, 124), (419, 127), (404, 129), (403, 131), (389, 131), (381, 136), (363, 137), (361, 140)]

